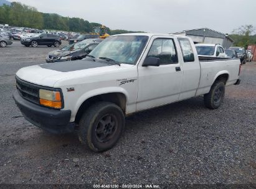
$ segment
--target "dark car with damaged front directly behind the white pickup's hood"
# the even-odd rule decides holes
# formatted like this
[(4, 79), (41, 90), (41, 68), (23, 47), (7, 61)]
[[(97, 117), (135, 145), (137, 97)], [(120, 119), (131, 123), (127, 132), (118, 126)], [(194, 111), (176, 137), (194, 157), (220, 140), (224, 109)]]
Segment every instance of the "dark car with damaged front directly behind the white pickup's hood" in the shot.
[(100, 42), (102, 39), (85, 39), (82, 42), (67, 45), (59, 50), (49, 52), (45, 61), (50, 63), (85, 58)]

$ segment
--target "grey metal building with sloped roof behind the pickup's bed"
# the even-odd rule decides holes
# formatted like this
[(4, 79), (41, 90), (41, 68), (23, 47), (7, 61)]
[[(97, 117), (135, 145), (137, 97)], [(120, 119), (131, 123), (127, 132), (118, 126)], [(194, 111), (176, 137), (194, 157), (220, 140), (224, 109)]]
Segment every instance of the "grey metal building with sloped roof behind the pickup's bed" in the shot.
[(229, 35), (208, 28), (184, 30), (174, 34), (191, 37), (195, 44), (220, 44), (224, 48), (229, 48), (234, 43), (234, 40)]

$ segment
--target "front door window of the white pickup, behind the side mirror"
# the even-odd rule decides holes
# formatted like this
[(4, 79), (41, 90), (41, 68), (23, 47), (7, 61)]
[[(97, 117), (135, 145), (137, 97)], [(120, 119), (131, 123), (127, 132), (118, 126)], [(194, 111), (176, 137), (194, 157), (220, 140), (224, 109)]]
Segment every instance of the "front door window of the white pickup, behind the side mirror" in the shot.
[(160, 58), (160, 65), (178, 63), (173, 39), (155, 39), (147, 57)]

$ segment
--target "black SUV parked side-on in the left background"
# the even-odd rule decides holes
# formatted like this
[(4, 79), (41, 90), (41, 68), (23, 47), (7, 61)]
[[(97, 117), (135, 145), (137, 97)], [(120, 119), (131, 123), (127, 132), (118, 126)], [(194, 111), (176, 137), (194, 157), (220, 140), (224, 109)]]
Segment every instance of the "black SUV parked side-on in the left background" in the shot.
[(54, 45), (54, 47), (59, 47), (61, 45), (61, 40), (58, 35), (36, 34), (32, 37), (21, 39), (21, 44), (26, 47), (29, 47), (30, 45), (32, 47), (37, 47), (38, 45), (46, 45), (48, 47)]

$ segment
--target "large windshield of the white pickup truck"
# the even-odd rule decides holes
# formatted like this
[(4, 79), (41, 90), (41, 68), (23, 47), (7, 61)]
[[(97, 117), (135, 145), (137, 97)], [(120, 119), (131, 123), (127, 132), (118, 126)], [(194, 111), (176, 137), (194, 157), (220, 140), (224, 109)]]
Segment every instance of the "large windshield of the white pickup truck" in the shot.
[(148, 41), (144, 35), (120, 35), (103, 40), (90, 53), (95, 58), (106, 57), (116, 62), (135, 65)]

